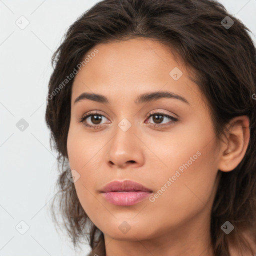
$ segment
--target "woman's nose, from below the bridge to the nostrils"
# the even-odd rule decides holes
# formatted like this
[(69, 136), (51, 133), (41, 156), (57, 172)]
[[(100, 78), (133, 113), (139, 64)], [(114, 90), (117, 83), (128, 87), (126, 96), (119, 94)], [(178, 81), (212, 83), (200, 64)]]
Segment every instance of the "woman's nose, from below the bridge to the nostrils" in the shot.
[(119, 128), (119, 126), (116, 127), (114, 136), (107, 144), (108, 149), (105, 156), (110, 167), (139, 167), (144, 163), (143, 143), (134, 131), (132, 125), (126, 131)]

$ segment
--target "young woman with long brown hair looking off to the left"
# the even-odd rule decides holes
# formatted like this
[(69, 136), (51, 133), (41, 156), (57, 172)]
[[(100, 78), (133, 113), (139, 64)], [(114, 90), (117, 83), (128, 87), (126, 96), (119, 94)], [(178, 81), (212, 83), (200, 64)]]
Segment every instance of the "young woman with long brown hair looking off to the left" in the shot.
[(246, 30), (213, 0), (103, 0), (69, 27), (45, 118), (74, 245), (87, 237), (99, 256), (255, 255)]

